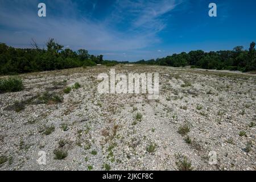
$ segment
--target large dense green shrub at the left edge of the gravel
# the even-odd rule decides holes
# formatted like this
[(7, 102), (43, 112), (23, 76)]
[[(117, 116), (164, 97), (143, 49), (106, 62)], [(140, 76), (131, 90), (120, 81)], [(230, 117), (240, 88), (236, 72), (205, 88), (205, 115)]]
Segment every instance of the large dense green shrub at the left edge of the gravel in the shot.
[(20, 78), (9, 77), (7, 79), (0, 79), (0, 93), (19, 92), (22, 89), (23, 82)]

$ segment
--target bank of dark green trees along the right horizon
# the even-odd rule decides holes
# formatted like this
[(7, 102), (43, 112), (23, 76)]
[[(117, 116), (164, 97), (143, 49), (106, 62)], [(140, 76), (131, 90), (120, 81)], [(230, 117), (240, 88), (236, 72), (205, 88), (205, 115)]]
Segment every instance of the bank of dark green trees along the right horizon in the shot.
[(204, 69), (229, 69), (242, 72), (256, 70), (255, 43), (250, 44), (249, 50), (244, 50), (242, 46), (235, 47), (232, 51), (204, 52), (201, 50), (189, 53), (181, 52), (172, 56), (160, 59), (141, 60), (138, 64), (157, 64), (172, 67), (184, 67), (191, 65), (194, 68)]

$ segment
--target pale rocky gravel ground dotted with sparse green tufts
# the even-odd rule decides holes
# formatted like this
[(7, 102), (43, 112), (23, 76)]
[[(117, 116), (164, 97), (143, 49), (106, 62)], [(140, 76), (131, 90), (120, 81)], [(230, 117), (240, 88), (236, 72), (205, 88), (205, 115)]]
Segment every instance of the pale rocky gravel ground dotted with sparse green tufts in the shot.
[[(256, 169), (255, 75), (111, 68), (158, 72), (159, 100), (99, 94), (97, 76), (110, 67), (20, 75), (24, 90), (0, 94), (0, 169)], [(37, 162), (39, 151), (46, 165)]]

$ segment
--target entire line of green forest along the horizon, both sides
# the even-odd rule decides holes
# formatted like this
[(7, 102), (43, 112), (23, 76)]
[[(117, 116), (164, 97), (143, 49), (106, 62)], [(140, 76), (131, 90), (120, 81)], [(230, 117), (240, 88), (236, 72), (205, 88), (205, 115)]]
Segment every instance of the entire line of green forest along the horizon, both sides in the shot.
[[(75, 67), (90, 67), (97, 64), (114, 66), (118, 62), (104, 60), (102, 55), (89, 55), (85, 49), (72, 51), (63, 49), (54, 39), (49, 39), (46, 49), (38, 47), (32, 40), (32, 48), (13, 48), (5, 43), (0, 43), (0, 75), (14, 75), (18, 73), (51, 71), (56, 69), (67, 69)], [(201, 50), (182, 52), (160, 59), (140, 60), (135, 64), (166, 65), (171, 67), (185, 67), (204, 69), (229, 69), (242, 72), (256, 70), (255, 43), (250, 44), (249, 50), (237, 46), (233, 51), (204, 52)]]

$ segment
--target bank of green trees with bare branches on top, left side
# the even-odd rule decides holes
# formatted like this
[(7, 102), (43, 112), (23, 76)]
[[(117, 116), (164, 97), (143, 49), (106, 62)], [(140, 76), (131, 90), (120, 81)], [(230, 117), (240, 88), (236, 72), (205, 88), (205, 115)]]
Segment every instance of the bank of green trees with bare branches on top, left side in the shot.
[(63, 49), (54, 39), (48, 40), (46, 49), (40, 49), (35, 42), (32, 42), (30, 49), (13, 48), (0, 43), (1, 75), (88, 67), (103, 62), (102, 55), (89, 55), (85, 49)]

